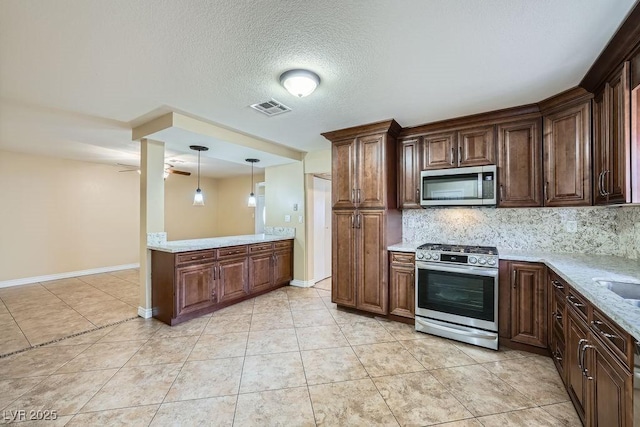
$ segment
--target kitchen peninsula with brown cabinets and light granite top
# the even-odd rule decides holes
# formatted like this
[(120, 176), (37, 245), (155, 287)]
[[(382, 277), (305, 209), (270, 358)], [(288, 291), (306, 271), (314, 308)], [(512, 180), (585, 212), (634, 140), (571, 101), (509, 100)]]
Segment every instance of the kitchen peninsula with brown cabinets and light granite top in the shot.
[(252, 234), (149, 245), (153, 317), (176, 325), (293, 278), (293, 236)]

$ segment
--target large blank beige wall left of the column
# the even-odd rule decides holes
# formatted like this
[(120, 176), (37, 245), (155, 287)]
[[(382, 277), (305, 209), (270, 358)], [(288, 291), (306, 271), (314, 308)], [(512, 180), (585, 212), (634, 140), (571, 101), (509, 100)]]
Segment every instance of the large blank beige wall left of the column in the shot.
[(138, 262), (139, 177), (0, 151), (0, 281)]

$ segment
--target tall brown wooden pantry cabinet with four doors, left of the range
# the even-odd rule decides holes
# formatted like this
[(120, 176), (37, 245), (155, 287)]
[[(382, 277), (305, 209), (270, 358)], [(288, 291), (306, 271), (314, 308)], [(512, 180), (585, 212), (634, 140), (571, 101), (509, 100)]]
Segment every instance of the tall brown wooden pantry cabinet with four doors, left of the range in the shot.
[(394, 120), (323, 133), (332, 142), (332, 292), (343, 307), (387, 314), (387, 246), (402, 239)]

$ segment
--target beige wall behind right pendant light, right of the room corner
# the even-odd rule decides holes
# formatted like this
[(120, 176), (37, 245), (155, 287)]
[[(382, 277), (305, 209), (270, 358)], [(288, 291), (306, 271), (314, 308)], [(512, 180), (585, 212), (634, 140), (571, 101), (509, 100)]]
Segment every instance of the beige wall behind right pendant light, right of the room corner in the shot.
[[(264, 181), (264, 175), (254, 175), (253, 182)], [(251, 175), (218, 179), (216, 201), (218, 235), (235, 236), (254, 234), (255, 209), (247, 206), (251, 191)], [(259, 194), (254, 189), (255, 194)]]

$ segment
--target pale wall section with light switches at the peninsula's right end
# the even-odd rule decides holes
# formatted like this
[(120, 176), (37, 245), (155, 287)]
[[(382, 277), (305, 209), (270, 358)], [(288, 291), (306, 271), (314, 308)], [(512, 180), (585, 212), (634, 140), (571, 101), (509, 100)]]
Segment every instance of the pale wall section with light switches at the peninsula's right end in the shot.
[[(295, 227), (296, 238), (293, 244), (293, 278), (311, 280), (308, 277), (305, 224), (298, 222), (298, 215), (305, 212), (304, 169), (303, 162), (294, 162), (282, 166), (273, 166), (265, 170), (265, 205), (267, 226)], [(298, 204), (298, 210), (293, 205)], [(291, 215), (291, 222), (285, 222), (284, 216)]]

